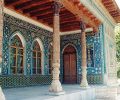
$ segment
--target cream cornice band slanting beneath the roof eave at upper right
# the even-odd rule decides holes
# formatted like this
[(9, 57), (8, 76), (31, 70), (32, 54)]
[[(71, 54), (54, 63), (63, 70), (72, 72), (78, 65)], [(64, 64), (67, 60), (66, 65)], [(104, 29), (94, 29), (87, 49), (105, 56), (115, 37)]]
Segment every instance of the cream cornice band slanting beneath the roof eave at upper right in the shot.
[[(101, 0), (80, 0), (80, 2), (89, 9), (102, 23), (108, 21), (111, 25), (115, 25), (115, 20), (111, 17), (107, 9), (101, 3)], [(97, 7), (97, 8), (96, 8)]]

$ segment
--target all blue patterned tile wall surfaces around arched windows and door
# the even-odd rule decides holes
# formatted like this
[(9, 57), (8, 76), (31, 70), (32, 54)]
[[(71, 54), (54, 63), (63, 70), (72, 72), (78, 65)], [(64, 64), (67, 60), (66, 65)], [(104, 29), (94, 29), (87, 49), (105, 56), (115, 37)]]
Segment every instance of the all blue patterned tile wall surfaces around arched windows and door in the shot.
[[(31, 61), (31, 44), (36, 37), (39, 37), (43, 43), (44, 47), (44, 73), (48, 74), (49, 60), (48, 52), (49, 45), (52, 41), (52, 33), (44, 30), (40, 27), (22, 21), (20, 19), (14, 18), (8, 14), (4, 14), (4, 33), (3, 33), (3, 63), (2, 63), (2, 74), (9, 75), (9, 40), (10, 37), (15, 34), (15, 32), (20, 32), (26, 41), (26, 73), (25, 75), (31, 75), (32, 61)], [(63, 76), (63, 49), (66, 45), (72, 44), (77, 51), (77, 81), (80, 82), (81, 79), (81, 33), (74, 33), (71, 35), (61, 36), (60, 42), (60, 70), (61, 76)], [(87, 45), (93, 46), (93, 66), (87, 67), (88, 70), (88, 80), (90, 83), (102, 83), (103, 77), (101, 77), (105, 72), (104, 67), (104, 33), (103, 25), (100, 25), (99, 32), (92, 36), (88, 33)], [(95, 76), (100, 76), (96, 77)], [(62, 78), (62, 77), (61, 77)], [(99, 80), (99, 81), (98, 81)]]

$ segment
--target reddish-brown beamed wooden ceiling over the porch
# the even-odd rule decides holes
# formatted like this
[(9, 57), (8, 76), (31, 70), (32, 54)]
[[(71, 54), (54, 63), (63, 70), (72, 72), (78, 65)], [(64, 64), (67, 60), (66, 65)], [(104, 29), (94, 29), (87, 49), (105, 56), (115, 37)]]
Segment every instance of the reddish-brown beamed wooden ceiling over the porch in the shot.
[[(65, 0), (63, 0), (65, 1)], [(77, 0), (66, 0), (78, 7), (82, 11), (85, 18), (88, 18), (86, 23), (87, 27), (96, 27), (100, 21), (86, 9), (82, 4), (76, 2)], [(53, 27), (53, 0), (4, 0), (5, 7), (21, 13), (29, 18), (41, 22), (47, 26)], [(77, 6), (76, 6), (77, 4)], [(74, 12), (63, 5), (60, 11), (60, 31), (74, 31), (79, 30), (79, 18)], [(92, 23), (92, 24), (91, 24)]]

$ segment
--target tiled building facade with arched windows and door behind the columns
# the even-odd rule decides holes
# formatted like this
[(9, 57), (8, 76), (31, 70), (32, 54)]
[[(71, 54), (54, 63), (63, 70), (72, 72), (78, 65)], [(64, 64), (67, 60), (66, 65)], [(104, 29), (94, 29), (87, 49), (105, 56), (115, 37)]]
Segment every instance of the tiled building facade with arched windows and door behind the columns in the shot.
[[(54, 56), (57, 54), (58, 57), (60, 55), (60, 75), (55, 75), (59, 76), (61, 83), (81, 83), (82, 76), (85, 76), (82, 69), (85, 57), (83, 54), (86, 54), (88, 84), (113, 85), (117, 82), (114, 34), (116, 23), (107, 10), (106, 13), (103, 12), (105, 7), (100, 7), (101, 2), (81, 0), (81, 3), (101, 21), (98, 31), (89, 28), (82, 30), (80, 26), (79, 31), (61, 32), (58, 39), (54, 35), (54, 32), (59, 32), (55, 30), (58, 29), (56, 24), (54, 31), (46, 28), (47, 26), (44, 28), (34, 24), (29, 18), (11, 11), (5, 0), (0, 75), (3, 88), (51, 84), (52, 76), (54, 79), (54, 72), (57, 70), (53, 67)], [(84, 31), (86, 47), (82, 50)], [(57, 40), (60, 40), (60, 44)], [(60, 52), (57, 45), (60, 46)]]

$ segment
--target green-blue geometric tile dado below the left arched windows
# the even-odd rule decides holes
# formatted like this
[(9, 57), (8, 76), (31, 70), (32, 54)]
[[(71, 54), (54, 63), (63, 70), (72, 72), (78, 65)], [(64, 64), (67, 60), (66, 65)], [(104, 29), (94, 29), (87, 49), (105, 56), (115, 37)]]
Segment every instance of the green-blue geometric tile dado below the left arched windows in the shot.
[(0, 76), (0, 85), (2, 88), (48, 85), (51, 84), (51, 80), (50, 75), (8, 75)]

